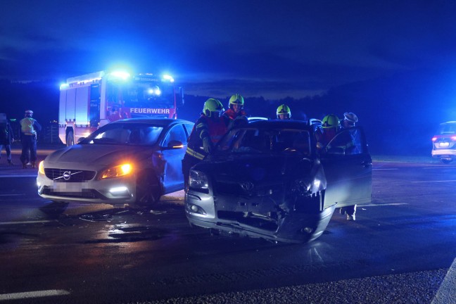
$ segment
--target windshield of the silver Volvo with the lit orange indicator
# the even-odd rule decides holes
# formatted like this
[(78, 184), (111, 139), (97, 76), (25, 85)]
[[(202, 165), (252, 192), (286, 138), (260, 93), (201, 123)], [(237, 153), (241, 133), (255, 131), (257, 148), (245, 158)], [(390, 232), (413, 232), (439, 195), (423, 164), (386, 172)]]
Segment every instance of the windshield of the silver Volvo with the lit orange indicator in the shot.
[(96, 130), (80, 144), (152, 146), (158, 141), (161, 132), (163, 127), (156, 125), (114, 123)]

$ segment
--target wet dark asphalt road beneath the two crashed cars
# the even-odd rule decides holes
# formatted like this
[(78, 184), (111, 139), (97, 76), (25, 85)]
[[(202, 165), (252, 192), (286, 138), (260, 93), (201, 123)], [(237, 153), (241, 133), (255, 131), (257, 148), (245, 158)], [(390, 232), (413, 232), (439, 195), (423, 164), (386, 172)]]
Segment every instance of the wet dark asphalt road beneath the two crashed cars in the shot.
[(4, 303), (456, 303), (455, 165), (374, 161), (356, 222), (284, 245), (190, 228), (182, 191), (153, 210), (55, 205), (4, 163)]

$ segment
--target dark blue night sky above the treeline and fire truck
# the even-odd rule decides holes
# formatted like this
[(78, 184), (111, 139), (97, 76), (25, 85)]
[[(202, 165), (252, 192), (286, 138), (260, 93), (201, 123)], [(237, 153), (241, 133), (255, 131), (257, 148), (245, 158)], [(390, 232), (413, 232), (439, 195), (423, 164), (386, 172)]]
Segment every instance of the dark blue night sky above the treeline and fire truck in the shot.
[(186, 93), (299, 98), (456, 68), (456, 1), (0, 1), (0, 79), (127, 67)]

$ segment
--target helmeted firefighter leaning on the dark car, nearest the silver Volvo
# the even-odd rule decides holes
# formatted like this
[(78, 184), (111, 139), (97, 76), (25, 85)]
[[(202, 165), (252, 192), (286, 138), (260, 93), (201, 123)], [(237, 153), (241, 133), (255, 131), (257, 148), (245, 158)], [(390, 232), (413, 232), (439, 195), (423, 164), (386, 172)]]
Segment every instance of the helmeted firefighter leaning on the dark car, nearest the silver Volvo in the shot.
[(223, 105), (217, 99), (211, 98), (205, 101), (203, 113), (196, 120), (194, 128), (191, 130), (185, 156), (182, 160), (185, 189), (188, 189), (191, 167), (203, 160), (228, 131), (231, 120), (227, 115), (222, 115), (223, 111)]

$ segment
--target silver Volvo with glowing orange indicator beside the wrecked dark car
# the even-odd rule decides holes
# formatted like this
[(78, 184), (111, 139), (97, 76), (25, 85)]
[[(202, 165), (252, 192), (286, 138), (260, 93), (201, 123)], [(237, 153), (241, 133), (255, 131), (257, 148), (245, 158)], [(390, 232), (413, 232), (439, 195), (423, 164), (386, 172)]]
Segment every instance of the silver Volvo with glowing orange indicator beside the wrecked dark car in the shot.
[(151, 205), (184, 188), (181, 160), (193, 126), (156, 118), (111, 122), (47, 156), (38, 194), (57, 202)]

